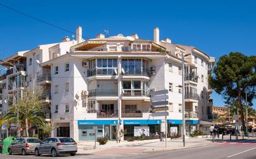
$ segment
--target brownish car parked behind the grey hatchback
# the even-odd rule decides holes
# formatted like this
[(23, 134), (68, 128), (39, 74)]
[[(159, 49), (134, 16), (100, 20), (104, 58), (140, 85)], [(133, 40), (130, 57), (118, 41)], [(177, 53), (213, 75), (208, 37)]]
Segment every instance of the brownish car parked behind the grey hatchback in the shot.
[(41, 143), (41, 140), (34, 137), (23, 137), (14, 140), (8, 147), (9, 155), (12, 153), (27, 155), (35, 153), (35, 147)]

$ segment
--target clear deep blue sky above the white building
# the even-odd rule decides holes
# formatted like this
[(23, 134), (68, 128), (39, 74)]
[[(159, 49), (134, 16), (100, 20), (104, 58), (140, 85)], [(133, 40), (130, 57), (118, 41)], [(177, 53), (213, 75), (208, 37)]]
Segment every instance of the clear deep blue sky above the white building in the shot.
[[(217, 59), (231, 51), (256, 53), (255, 1), (1, 1), (26, 14), (93, 38), (103, 30), (109, 35), (138, 33), (193, 45)], [(0, 58), (40, 44), (60, 41), (72, 33), (59, 30), (0, 6)], [(214, 105), (224, 105), (213, 93)], [(254, 100), (254, 105), (256, 102)]]

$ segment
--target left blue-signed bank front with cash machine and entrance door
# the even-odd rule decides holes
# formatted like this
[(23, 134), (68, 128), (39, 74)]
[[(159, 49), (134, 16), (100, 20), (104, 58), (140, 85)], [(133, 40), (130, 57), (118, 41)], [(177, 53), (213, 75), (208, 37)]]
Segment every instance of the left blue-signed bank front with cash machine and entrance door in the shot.
[(117, 123), (117, 120), (78, 120), (78, 140), (95, 140), (95, 137), (114, 140)]

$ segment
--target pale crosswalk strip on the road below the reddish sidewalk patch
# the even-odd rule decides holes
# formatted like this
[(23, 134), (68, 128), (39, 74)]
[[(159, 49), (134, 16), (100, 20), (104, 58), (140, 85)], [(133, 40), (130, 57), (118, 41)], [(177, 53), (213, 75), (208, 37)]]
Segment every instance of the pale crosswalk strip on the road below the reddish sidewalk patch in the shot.
[(71, 156), (62, 156), (62, 157), (56, 157), (56, 159), (68, 159), (68, 158), (72, 158), (72, 159), (116, 159), (116, 158), (124, 158), (124, 157), (134, 157), (137, 155), (142, 155), (142, 154), (146, 154), (146, 153), (130, 153), (130, 154), (122, 154), (122, 155), (76, 155), (75, 157), (71, 157)]

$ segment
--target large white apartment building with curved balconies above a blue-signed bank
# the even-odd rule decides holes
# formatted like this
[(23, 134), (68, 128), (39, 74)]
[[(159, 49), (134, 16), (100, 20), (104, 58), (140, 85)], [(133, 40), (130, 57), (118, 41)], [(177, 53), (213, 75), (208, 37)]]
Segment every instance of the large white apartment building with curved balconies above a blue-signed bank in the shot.
[(150, 101), (151, 91), (163, 89), (169, 90), (168, 132), (181, 134), (182, 53), (186, 135), (199, 129), (200, 120), (208, 120), (208, 73), (215, 62), (208, 54), (168, 38), (160, 41), (158, 28), (154, 40), (101, 33), (83, 40), (81, 27), (76, 34), (76, 40), (40, 45), (22, 56), (26, 81), (47, 90), (48, 121), (57, 127), (52, 136), (83, 141), (94, 140), (95, 133), (115, 139), (117, 129), (127, 130), (124, 139), (137, 135), (137, 129), (148, 135), (164, 132), (164, 118), (152, 116)]

